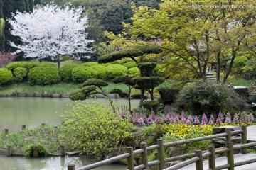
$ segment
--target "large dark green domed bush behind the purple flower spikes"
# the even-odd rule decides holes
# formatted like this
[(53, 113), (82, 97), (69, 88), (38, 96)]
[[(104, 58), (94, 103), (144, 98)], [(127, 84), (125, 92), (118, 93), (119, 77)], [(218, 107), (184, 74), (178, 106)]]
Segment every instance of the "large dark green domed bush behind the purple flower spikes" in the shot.
[(247, 104), (227, 86), (213, 82), (196, 82), (181, 91), (180, 98), (186, 111), (194, 115), (217, 115), (219, 111), (243, 111)]

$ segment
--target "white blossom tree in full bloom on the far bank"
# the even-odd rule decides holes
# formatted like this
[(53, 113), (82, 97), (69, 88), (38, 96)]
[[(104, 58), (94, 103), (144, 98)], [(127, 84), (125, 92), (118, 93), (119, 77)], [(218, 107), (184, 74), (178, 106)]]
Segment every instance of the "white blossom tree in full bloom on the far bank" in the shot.
[(87, 39), (87, 16), (82, 16), (82, 8), (68, 5), (59, 8), (53, 4), (38, 6), (32, 13), (16, 12), (8, 22), (11, 34), (21, 40), (19, 45), (10, 42), (18, 49), (15, 54), (23, 52), (24, 57), (38, 60), (51, 57), (60, 67), (63, 55), (79, 58), (81, 54), (92, 52), (88, 45), (93, 41)]

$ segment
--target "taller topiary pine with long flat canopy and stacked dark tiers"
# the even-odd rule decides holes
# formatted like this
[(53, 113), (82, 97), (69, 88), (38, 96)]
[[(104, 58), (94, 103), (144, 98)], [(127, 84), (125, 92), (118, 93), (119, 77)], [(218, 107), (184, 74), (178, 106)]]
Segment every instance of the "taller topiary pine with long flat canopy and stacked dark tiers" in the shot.
[(162, 52), (162, 50), (159, 47), (144, 45), (133, 49), (124, 49), (112, 52), (109, 55), (100, 57), (97, 61), (99, 63), (107, 63), (121, 60), (123, 58), (131, 58), (137, 64), (137, 67), (140, 70), (140, 77), (133, 78), (132, 81), (136, 84), (135, 88), (140, 89), (141, 91), (141, 98), (139, 102), (139, 106), (141, 106), (144, 101), (145, 91), (149, 92), (151, 100), (153, 100), (154, 88), (164, 82), (163, 77), (158, 77), (154, 74), (154, 68), (156, 67), (155, 61), (145, 58), (146, 55), (159, 54), (160, 52)]

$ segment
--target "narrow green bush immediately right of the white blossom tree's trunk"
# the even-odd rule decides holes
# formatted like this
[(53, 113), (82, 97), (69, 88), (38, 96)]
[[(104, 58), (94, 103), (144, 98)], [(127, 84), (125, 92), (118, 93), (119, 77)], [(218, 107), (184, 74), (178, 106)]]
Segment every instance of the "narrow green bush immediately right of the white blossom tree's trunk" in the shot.
[(59, 68), (60, 79), (65, 82), (72, 81), (72, 70), (78, 67), (78, 64), (65, 64)]

